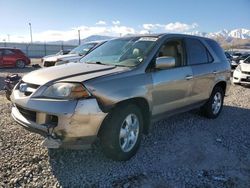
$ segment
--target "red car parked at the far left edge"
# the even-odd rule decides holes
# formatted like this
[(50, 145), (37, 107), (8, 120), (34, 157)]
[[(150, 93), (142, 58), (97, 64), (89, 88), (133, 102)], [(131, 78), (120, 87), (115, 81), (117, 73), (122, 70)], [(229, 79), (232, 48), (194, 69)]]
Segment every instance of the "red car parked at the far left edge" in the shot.
[(19, 49), (0, 48), (0, 67), (24, 68), (30, 59)]

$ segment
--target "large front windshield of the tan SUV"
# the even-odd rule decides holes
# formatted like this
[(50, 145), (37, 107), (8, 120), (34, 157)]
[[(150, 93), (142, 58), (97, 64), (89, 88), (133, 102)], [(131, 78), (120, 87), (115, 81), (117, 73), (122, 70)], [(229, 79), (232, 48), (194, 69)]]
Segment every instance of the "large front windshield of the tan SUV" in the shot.
[(157, 39), (156, 37), (130, 37), (110, 40), (83, 57), (81, 62), (136, 66), (143, 62)]

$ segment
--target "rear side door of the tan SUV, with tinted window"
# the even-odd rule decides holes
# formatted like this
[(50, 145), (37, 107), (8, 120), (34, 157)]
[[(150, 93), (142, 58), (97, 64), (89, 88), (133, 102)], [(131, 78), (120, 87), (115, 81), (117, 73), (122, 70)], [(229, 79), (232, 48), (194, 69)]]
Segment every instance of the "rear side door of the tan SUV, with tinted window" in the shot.
[(199, 103), (209, 98), (213, 87), (216, 70), (213, 57), (206, 46), (198, 38), (186, 38), (188, 65), (193, 72), (193, 88), (191, 90), (192, 103)]

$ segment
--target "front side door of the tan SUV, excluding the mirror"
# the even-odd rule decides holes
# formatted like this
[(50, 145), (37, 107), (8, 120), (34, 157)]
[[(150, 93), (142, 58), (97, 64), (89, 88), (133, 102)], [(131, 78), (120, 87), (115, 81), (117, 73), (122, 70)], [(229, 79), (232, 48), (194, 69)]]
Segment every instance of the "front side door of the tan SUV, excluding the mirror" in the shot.
[[(175, 47), (172, 48), (171, 45)], [(166, 52), (161, 52), (160, 49), (158, 56), (174, 57), (176, 59), (176, 66), (170, 69), (155, 70), (152, 72), (153, 116), (188, 106), (190, 104), (190, 89), (193, 85), (192, 69), (186, 66), (183, 39), (168, 40), (161, 48), (167, 50)]]

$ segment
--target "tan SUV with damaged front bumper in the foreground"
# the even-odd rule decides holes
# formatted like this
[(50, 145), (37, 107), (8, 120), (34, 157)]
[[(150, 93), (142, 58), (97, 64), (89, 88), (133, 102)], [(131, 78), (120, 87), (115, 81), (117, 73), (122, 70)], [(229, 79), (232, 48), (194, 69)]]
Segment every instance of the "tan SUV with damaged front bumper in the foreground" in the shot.
[(82, 148), (99, 138), (106, 156), (128, 160), (154, 121), (195, 108), (218, 117), (230, 74), (212, 39), (121, 37), (80, 63), (26, 74), (11, 94), (12, 117), (47, 137), (47, 147)]

